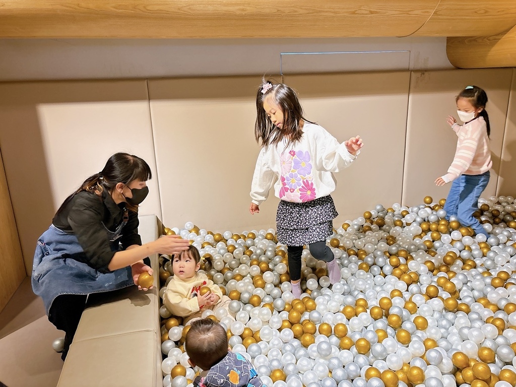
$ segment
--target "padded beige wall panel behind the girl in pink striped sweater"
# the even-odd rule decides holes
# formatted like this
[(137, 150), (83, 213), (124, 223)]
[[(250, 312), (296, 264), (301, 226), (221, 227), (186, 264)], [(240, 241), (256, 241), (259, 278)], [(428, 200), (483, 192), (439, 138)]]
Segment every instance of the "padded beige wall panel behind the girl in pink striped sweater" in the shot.
[(446, 198), (450, 184), (436, 187), (434, 181), (446, 173), (453, 161), (457, 135), (446, 117), (457, 117), (455, 96), (467, 85), (486, 90), (491, 123), (491, 180), (482, 197), (494, 195), (498, 180), (505, 117), (509, 100), (511, 69), (447, 70), (411, 73), (407, 153), (403, 179), (403, 204), (434, 202)]

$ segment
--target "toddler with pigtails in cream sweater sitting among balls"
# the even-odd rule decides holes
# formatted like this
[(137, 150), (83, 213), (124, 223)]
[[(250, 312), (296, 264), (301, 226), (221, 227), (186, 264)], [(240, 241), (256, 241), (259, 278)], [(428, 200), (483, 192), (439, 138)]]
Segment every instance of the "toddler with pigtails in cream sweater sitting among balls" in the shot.
[[(202, 312), (206, 309), (228, 310), (230, 298), (222, 296), (220, 287), (204, 273), (198, 272), (201, 268), (201, 256), (197, 248), (190, 245), (188, 250), (172, 255), (171, 260), (174, 275), (167, 284), (163, 303), (173, 315), (184, 317), (184, 325), (201, 318)], [(211, 259), (206, 259), (204, 266), (209, 270)], [(201, 295), (201, 288), (204, 286), (209, 287), (211, 291)]]

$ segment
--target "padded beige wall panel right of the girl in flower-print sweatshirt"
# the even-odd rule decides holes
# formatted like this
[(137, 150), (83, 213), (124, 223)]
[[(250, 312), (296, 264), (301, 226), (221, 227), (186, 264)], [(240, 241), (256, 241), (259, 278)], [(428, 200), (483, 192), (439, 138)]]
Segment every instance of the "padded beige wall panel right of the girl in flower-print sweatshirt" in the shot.
[(409, 76), (408, 71), (284, 76), (298, 91), (308, 120), (340, 142), (356, 135), (364, 140), (356, 162), (334, 174), (339, 213), (334, 227), (378, 203), (401, 200)]

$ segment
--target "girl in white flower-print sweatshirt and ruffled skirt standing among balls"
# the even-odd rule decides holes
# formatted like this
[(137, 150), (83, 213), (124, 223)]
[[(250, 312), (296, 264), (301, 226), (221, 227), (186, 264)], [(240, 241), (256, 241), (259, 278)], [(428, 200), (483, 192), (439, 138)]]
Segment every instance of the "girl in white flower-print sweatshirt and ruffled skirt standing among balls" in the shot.
[(274, 184), (281, 199), (276, 215), (278, 241), (287, 246), (288, 269), (294, 298), (301, 296), (301, 253), (325, 261), (332, 284), (341, 273), (326, 238), (338, 215), (330, 193), (333, 172), (348, 167), (363, 147), (360, 136), (339, 143), (324, 128), (303, 117), (293, 89), (264, 82), (256, 95), (254, 135), (262, 149), (251, 183), (251, 214), (259, 213)]

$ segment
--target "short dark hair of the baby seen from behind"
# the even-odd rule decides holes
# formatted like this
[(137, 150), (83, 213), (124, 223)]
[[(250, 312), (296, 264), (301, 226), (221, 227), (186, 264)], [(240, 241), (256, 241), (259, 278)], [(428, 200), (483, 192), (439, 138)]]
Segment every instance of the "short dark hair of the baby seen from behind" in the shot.
[(227, 356), (228, 334), (209, 318), (195, 320), (186, 334), (185, 350), (193, 363), (210, 369)]

